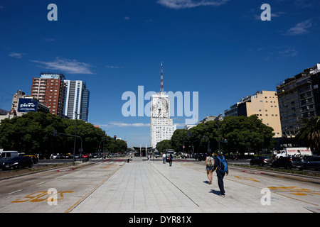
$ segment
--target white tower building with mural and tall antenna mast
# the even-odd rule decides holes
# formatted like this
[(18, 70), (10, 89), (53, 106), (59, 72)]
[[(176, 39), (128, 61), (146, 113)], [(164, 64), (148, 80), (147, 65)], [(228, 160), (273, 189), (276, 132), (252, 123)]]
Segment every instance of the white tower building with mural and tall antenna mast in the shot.
[(169, 95), (164, 94), (164, 79), (161, 62), (161, 88), (160, 92), (151, 96), (151, 147), (156, 148), (156, 143), (162, 140), (170, 140), (176, 131), (172, 119), (170, 119)]

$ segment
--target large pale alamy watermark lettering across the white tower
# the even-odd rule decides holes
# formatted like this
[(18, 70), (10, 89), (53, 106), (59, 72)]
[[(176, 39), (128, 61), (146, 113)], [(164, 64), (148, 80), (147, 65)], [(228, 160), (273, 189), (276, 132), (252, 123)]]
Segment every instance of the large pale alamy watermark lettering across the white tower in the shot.
[[(129, 116), (151, 116), (151, 97), (156, 92), (144, 93), (144, 86), (138, 86), (138, 93), (124, 92), (122, 100), (127, 100), (122, 105), (122, 115)], [(164, 92), (169, 96), (170, 116), (186, 116), (186, 125), (195, 124), (198, 121), (199, 112), (199, 93), (192, 92), (192, 110), (191, 110), (191, 92)], [(145, 104), (145, 101), (149, 101)], [(176, 107), (176, 108), (175, 108)], [(176, 109), (176, 112), (175, 112)]]

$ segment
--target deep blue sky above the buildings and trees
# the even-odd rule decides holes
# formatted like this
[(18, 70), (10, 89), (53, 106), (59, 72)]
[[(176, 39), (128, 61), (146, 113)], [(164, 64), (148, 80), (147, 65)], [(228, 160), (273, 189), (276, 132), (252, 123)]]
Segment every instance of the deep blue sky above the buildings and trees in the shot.
[[(30, 94), (41, 72), (62, 72), (87, 83), (90, 123), (149, 145), (150, 118), (124, 117), (122, 94), (159, 92), (161, 61), (166, 92), (198, 92), (197, 118), (218, 115), (320, 62), (319, 9), (316, 0), (0, 0), (0, 109), (18, 89)], [(183, 128), (186, 116), (171, 118)]]

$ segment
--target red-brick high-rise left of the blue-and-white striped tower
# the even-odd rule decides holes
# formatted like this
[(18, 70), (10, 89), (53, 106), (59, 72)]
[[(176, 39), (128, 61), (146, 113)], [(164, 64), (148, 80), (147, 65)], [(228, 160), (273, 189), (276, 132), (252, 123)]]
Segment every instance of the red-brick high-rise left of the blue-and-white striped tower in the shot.
[(60, 117), (63, 117), (64, 79), (63, 74), (41, 73), (41, 77), (33, 77), (31, 87), (31, 96), (48, 106), (51, 114)]

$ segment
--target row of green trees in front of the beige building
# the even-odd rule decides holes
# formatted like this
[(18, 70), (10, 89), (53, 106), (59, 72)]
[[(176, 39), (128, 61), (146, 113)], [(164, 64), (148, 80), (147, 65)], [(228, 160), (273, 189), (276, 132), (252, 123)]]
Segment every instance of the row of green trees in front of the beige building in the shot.
[[(225, 117), (223, 121), (199, 123), (188, 131), (176, 130), (171, 137), (172, 148), (177, 151), (182, 150), (184, 134), (184, 144), (188, 152), (191, 152), (190, 148), (193, 146), (195, 153), (206, 153), (208, 143), (210, 143), (212, 151), (217, 150), (218, 124), (220, 148), (228, 153), (245, 153), (248, 150), (261, 151), (262, 148), (272, 150), (277, 143), (273, 138), (273, 128), (266, 126), (257, 116), (230, 116)], [(223, 143), (223, 139), (228, 143)]]

